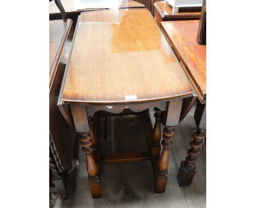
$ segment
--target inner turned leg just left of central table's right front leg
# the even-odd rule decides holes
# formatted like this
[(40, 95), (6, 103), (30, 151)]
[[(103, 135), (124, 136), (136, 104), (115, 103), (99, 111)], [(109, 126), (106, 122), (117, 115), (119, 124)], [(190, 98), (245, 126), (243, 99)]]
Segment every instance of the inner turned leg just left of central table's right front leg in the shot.
[(151, 157), (159, 158), (161, 146), (160, 146), (160, 140), (161, 140), (161, 118), (162, 118), (162, 112), (158, 108), (154, 108), (155, 112), (155, 126), (153, 129), (153, 136), (152, 136), (152, 146), (151, 146)]

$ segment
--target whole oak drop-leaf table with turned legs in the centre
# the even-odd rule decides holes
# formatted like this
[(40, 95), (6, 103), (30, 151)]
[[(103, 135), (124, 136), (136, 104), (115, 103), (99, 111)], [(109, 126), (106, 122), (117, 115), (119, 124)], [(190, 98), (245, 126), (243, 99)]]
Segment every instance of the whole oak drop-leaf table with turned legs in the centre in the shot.
[[(155, 191), (165, 192), (173, 129), (196, 99), (171, 47), (147, 9), (81, 13), (74, 36), (58, 105), (61, 111), (70, 110), (80, 134), (92, 198), (101, 197), (100, 162), (151, 160)], [(147, 115), (151, 107), (156, 111), (152, 131)], [(149, 152), (102, 157), (98, 115), (130, 112), (148, 118)], [(160, 155), (161, 122), (165, 129)]]

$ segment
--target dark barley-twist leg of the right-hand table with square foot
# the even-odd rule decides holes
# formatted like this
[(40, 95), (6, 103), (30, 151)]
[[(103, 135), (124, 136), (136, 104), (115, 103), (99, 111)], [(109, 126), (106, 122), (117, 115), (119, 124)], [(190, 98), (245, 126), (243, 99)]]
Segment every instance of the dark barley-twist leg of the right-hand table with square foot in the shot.
[(194, 118), (197, 130), (193, 132), (193, 140), (189, 143), (188, 155), (179, 167), (177, 176), (179, 186), (189, 186), (196, 173), (195, 163), (206, 138), (206, 104), (197, 102)]

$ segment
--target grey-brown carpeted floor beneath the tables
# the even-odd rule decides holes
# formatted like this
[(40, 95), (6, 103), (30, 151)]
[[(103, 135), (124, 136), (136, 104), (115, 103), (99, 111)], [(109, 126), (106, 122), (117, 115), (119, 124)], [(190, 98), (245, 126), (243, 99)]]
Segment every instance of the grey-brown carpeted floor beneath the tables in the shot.
[[(170, 148), (165, 193), (154, 193), (154, 175), (150, 161), (103, 164), (102, 198), (92, 199), (85, 168), (85, 156), (79, 148), (79, 166), (73, 170), (68, 183), (71, 194), (67, 200), (51, 194), (50, 207), (206, 207), (206, 145), (203, 146), (196, 163), (197, 172), (191, 186), (179, 187), (177, 182), (179, 165), (185, 159), (192, 132), (196, 128), (194, 111), (195, 106), (175, 128), (173, 145)], [(154, 111), (150, 109), (154, 125), (153, 114)], [(101, 143), (104, 143), (105, 147), (101, 148), (101, 151), (106, 153), (147, 151), (146, 139), (141, 139), (144, 137), (144, 131), (139, 119), (130, 116), (130, 118), (116, 117), (110, 121), (113, 129), (108, 128), (109, 139), (102, 140), (103, 137), (101, 137)]]

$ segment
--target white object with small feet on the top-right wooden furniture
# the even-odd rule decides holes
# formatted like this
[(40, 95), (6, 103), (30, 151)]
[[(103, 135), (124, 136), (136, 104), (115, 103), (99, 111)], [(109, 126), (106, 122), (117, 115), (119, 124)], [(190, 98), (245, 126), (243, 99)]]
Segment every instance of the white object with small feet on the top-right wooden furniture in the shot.
[(203, 0), (165, 0), (172, 5), (173, 13), (179, 12), (179, 7), (202, 7)]

